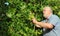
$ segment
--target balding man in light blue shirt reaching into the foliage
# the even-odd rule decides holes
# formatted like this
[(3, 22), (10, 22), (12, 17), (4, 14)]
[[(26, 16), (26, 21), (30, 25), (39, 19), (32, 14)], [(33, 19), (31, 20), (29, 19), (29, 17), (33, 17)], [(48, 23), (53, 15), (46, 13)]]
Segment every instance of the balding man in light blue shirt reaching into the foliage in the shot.
[(50, 7), (44, 7), (43, 16), (46, 18), (42, 22), (32, 19), (36, 27), (43, 28), (43, 36), (60, 36), (60, 19), (54, 15)]

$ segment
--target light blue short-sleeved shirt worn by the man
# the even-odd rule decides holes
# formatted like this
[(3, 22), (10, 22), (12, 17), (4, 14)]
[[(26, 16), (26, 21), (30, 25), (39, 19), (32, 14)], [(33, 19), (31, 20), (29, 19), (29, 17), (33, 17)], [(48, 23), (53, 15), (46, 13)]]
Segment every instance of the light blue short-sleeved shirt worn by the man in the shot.
[(48, 20), (43, 20), (43, 22), (51, 23), (55, 27), (53, 29), (43, 28), (43, 36), (60, 36), (60, 19), (57, 15), (51, 15)]

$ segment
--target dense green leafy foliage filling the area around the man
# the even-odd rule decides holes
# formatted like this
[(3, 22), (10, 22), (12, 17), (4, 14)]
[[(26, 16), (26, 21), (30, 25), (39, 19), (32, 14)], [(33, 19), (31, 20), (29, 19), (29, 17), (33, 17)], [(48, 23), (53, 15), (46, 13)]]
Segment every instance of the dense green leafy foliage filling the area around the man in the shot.
[(60, 17), (60, 0), (0, 0), (0, 36), (42, 36), (31, 20), (44, 19), (44, 6)]

